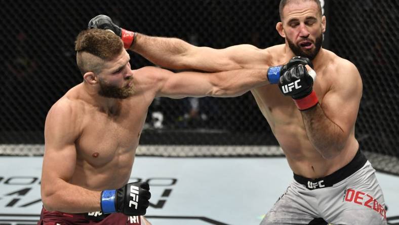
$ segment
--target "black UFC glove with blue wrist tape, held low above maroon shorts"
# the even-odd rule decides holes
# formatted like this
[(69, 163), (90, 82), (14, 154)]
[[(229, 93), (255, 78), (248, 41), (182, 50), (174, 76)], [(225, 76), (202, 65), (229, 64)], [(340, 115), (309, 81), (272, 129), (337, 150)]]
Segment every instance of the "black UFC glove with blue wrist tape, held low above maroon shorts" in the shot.
[(103, 213), (122, 212), (125, 215), (145, 215), (151, 198), (147, 182), (128, 183), (118, 190), (101, 192)]

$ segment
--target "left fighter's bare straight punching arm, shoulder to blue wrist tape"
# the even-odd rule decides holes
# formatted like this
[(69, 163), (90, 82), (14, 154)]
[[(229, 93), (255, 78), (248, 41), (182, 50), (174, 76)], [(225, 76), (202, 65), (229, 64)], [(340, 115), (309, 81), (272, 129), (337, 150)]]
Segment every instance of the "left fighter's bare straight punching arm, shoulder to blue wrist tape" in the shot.
[(234, 97), (269, 83), (267, 69), (237, 69), (215, 73), (174, 73), (150, 66), (142, 69), (148, 76), (155, 78), (158, 97)]

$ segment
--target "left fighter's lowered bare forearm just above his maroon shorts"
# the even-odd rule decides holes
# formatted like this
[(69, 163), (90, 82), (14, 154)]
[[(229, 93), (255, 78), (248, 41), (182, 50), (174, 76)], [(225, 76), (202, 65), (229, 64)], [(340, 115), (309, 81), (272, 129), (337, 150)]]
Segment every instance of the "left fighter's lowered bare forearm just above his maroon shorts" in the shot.
[[(48, 188), (44, 188), (47, 186)], [(42, 201), (49, 211), (85, 213), (100, 211), (101, 192), (91, 191), (64, 180), (42, 183)]]

